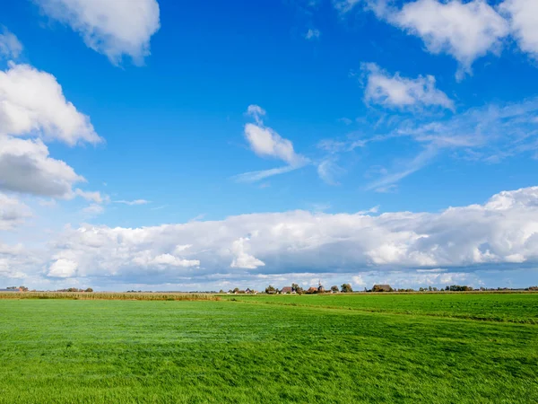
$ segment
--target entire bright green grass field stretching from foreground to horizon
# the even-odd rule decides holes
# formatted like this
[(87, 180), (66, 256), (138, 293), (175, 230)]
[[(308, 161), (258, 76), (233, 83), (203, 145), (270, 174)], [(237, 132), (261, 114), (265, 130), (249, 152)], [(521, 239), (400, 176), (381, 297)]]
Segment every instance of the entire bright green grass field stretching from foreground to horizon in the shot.
[(237, 300), (0, 300), (0, 402), (538, 402), (538, 294)]

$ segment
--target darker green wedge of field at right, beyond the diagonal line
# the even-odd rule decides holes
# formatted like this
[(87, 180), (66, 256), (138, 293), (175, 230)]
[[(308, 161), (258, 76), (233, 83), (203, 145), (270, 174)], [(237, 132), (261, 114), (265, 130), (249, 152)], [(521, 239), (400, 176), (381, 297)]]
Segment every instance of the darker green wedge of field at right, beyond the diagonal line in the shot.
[(244, 302), (538, 324), (538, 294), (228, 294), (221, 297)]

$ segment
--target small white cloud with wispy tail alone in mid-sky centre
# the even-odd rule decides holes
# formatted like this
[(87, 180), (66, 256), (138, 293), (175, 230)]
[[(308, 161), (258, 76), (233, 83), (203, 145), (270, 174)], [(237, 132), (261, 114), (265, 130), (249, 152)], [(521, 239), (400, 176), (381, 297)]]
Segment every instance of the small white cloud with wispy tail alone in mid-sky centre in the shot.
[(288, 165), (281, 168), (251, 171), (236, 176), (239, 181), (263, 180), (273, 175), (297, 170), (308, 163), (308, 159), (301, 154), (295, 153), (290, 140), (283, 138), (271, 127), (265, 127), (263, 117), (265, 110), (258, 105), (249, 105), (247, 116), (255, 119), (256, 123), (245, 125), (244, 136), (251, 150), (260, 157), (273, 157), (286, 162)]

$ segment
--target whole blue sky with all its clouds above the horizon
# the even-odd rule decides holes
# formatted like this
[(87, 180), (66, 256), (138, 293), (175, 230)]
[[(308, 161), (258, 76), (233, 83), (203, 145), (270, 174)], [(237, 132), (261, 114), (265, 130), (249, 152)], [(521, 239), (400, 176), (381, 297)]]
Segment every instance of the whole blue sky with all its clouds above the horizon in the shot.
[(538, 284), (534, 0), (0, 9), (0, 287)]

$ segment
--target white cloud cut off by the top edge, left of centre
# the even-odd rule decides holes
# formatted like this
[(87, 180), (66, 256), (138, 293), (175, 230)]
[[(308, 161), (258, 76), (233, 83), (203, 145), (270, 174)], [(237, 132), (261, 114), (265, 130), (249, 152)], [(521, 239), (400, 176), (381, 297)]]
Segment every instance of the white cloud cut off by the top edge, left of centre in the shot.
[(124, 56), (141, 64), (161, 27), (156, 0), (34, 0), (49, 17), (65, 22), (84, 43), (115, 65)]

